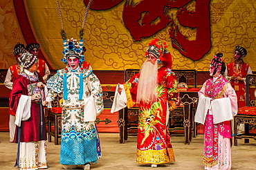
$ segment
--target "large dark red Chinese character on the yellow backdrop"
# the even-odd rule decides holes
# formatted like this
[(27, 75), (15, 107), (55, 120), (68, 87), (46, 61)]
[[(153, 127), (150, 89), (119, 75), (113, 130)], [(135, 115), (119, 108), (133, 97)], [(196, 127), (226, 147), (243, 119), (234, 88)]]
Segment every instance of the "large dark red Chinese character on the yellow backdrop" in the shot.
[[(124, 0), (93, 0), (93, 10), (109, 10)], [(84, 0), (87, 4), (89, 0)], [(188, 4), (194, 3), (194, 10), (188, 10)], [(170, 17), (168, 11), (178, 9), (176, 17)], [(169, 28), (172, 46), (194, 61), (209, 52), (210, 39), (210, 1), (209, 0), (142, 0), (126, 1), (122, 19), (134, 41), (151, 37), (163, 28)], [(192, 39), (181, 28), (195, 31)]]

